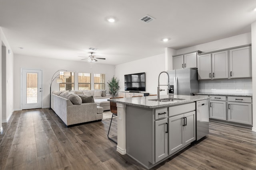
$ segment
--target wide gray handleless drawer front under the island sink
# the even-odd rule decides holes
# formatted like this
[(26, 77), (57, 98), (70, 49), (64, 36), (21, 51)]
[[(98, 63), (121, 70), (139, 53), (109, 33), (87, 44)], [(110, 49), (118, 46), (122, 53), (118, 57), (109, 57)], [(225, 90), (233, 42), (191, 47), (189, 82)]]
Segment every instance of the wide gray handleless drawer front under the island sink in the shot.
[(196, 103), (182, 104), (178, 106), (169, 107), (169, 116), (179, 115), (196, 110)]

